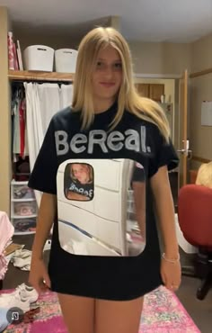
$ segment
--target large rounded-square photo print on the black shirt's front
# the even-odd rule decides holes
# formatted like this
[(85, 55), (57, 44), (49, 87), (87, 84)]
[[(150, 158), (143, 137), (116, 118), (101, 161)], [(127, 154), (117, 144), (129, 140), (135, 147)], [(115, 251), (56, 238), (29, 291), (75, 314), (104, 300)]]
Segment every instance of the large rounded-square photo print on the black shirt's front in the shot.
[(124, 158), (68, 159), (57, 170), (57, 211), (66, 252), (138, 256), (146, 246), (145, 169)]

